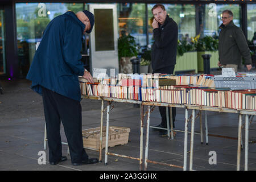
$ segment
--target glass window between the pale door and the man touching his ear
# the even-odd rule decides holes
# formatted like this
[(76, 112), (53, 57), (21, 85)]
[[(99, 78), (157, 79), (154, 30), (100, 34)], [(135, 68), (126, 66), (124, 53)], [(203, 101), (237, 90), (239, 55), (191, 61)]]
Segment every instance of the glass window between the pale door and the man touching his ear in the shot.
[(146, 22), (144, 3), (118, 3), (119, 36), (134, 36), (139, 46), (146, 46)]

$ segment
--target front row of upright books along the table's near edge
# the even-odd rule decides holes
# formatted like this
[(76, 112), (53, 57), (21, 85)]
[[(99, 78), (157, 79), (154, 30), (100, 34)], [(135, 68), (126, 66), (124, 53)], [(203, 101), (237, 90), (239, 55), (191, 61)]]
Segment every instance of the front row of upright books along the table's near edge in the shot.
[(81, 93), (87, 96), (256, 110), (256, 90), (229, 90), (229, 88), (209, 88), (200, 85), (166, 85), (154, 88), (139, 84), (122, 86), (100, 82), (94, 84), (80, 82), (80, 88)]

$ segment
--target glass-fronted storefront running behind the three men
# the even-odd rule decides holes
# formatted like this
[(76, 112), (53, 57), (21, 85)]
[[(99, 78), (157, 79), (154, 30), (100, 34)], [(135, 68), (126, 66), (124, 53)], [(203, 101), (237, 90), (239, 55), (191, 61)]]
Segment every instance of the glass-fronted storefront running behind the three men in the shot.
[[(97, 9), (104, 5), (114, 5), (113, 15), (110, 20), (113, 24), (113, 48), (110, 54), (115, 55), (117, 38), (122, 34), (134, 36), (138, 47), (148, 47), (152, 43), (152, 18), (151, 8), (159, 1), (6, 1), (0, 6), (0, 75), (8, 77), (26, 77), (35, 53), (35, 43), (42, 39), (43, 31), (47, 24), (57, 15), (68, 10), (77, 11)], [(101, 4), (102, 4), (101, 3)], [(179, 39), (191, 39), (200, 34), (203, 36), (218, 36), (218, 26), (222, 23), (221, 12), (230, 9), (234, 14), (234, 23), (241, 27), (247, 40), (253, 42), (256, 32), (256, 3), (249, 0), (223, 0), (223, 1), (164, 1), (168, 15), (175, 20), (179, 28)], [(13, 25), (8, 25), (10, 17)], [(111, 18), (110, 18), (111, 19)], [(106, 19), (108, 20), (108, 19)], [(13, 30), (11, 28), (13, 27)], [(116, 31), (115, 31), (116, 27)], [(97, 28), (97, 26), (96, 26)], [(89, 64), (89, 57), (93, 52), (90, 46), (97, 44), (100, 34), (85, 35), (81, 54)], [(14, 38), (11, 38), (14, 35)], [(7, 40), (6, 38), (9, 38)], [(108, 40), (112, 41), (112, 40)], [(255, 42), (255, 41), (254, 41)], [(256, 42), (255, 42), (256, 44)], [(102, 44), (101, 44), (102, 45)], [(7, 51), (7, 47), (12, 48)], [(97, 48), (96, 48), (97, 49)], [(106, 49), (106, 48), (105, 48)], [(104, 50), (105, 50), (104, 49)], [(107, 48), (109, 49), (109, 48)], [(114, 51), (115, 52), (111, 52)], [(97, 53), (97, 50), (94, 49)], [(94, 52), (94, 53), (95, 53)], [(97, 55), (100, 56), (100, 55)], [(115, 58), (118, 55), (115, 55)], [(107, 67), (107, 65), (105, 65)]]

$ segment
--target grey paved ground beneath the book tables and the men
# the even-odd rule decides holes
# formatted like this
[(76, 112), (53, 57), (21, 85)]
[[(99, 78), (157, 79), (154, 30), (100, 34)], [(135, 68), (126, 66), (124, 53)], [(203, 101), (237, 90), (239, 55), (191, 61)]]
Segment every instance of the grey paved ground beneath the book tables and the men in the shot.
[[(68, 160), (51, 166), (48, 163), (48, 148), (46, 150), (47, 163), (38, 164), (39, 151), (43, 151), (44, 113), (42, 97), (30, 89), (30, 81), (0, 80), (3, 94), (0, 94), (0, 170), (50, 170), (50, 171), (137, 171), (138, 160), (121, 158), (109, 155), (108, 165), (104, 165), (105, 150), (102, 152), (102, 163), (84, 166), (72, 166), (70, 156), (67, 154), (67, 145), (63, 144), (63, 155)], [(101, 101), (82, 100), (82, 129), (100, 126)], [(125, 145), (109, 147), (109, 152), (139, 157), (140, 115), (139, 108), (133, 104), (116, 103), (110, 112), (110, 126), (130, 127), (129, 142)], [(184, 109), (177, 109), (175, 126), (184, 130)], [(189, 115), (191, 111), (189, 111)], [(204, 114), (203, 114), (204, 115)], [(104, 114), (106, 118), (106, 114)], [(256, 118), (251, 122), (249, 140), (256, 140)], [(104, 125), (105, 125), (104, 120)], [(204, 121), (204, 117), (203, 117)], [(243, 118), (243, 122), (245, 119)], [(156, 108), (151, 114), (151, 125), (160, 123), (160, 114)], [(145, 120), (146, 124), (146, 120)], [(209, 134), (225, 135), (237, 138), (238, 115), (229, 113), (208, 112)], [(191, 130), (191, 123), (188, 125)], [(196, 119), (195, 131), (200, 131), (199, 119)], [(244, 141), (244, 130), (243, 141)], [(144, 127), (144, 138), (146, 127)], [(61, 127), (63, 142), (67, 142), (63, 127)], [(205, 138), (204, 138), (205, 140)], [(144, 139), (145, 143), (145, 139)], [(188, 166), (189, 168), (190, 134), (188, 134)], [(184, 133), (178, 132), (175, 139), (159, 135), (158, 131), (150, 129), (150, 143), (148, 159), (157, 162), (183, 166)], [(216, 152), (217, 164), (209, 164), (210, 151)], [(86, 149), (89, 157), (98, 158), (98, 151)], [(193, 169), (195, 170), (221, 170), (235, 171), (237, 163), (237, 140), (209, 136), (209, 144), (200, 143), (200, 135), (195, 135), (193, 150)], [(241, 151), (241, 170), (244, 168), (244, 150)], [(249, 170), (256, 170), (256, 144), (249, 143)], [(181, 171), (180, 168), (162, 166), (148, 163), (148, 170), (152, 171)]]

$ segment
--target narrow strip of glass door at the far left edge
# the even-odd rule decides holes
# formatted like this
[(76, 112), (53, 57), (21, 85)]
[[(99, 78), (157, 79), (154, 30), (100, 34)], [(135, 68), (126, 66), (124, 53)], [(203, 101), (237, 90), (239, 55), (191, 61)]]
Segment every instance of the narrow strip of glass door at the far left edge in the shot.
[(4, 10), (0, 9), (0, 75), (6, 73), (5, 59), (5, 17)]

